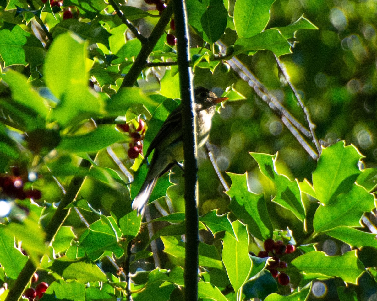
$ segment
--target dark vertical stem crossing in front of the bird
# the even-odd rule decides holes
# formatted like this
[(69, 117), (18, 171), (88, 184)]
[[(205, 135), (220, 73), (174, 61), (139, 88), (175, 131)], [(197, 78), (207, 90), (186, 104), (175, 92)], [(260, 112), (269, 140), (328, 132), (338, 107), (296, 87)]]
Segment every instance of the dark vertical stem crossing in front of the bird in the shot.
[(185, 161), (185, 300), (198, 300), (199, 229), (194, 89), (190, 67), (189, 29), (184, 0), (173, 1), (177, 36), (179, 85), (181, 90), (182, 137)]

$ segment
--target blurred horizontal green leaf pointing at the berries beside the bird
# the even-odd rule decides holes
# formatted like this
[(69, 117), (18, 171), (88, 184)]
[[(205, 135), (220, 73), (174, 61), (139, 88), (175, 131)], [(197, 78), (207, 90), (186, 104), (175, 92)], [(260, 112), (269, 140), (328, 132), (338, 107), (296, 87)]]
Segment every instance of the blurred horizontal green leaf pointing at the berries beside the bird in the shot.
[(63, 136), (57, 149), (71, 153), (96, 152), (115, 142), (127, 140), (112, 125), (100, 125), (93, 131), (74, 136)]

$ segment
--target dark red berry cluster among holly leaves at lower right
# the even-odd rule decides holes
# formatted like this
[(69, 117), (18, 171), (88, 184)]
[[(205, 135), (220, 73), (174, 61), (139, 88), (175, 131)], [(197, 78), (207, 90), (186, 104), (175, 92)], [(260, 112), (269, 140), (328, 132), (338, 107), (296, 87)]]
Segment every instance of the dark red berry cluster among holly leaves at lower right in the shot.
[(281, 240), (276, 242), (269, 238), (263, 243), (265, 251), (260, 251), (258, 257), (272, 257), (272, 260), (268, 261), (267, 269), (271, 272), (272, 277), (276, 278), (281, 285), (288, 285), (290, 282), (289, 276), (280, 270), (287, 268), (287, 263), (279, 259), (279, 255), (290, 254), (295, 251), (296, 247), (288, 243), (284, 244)]

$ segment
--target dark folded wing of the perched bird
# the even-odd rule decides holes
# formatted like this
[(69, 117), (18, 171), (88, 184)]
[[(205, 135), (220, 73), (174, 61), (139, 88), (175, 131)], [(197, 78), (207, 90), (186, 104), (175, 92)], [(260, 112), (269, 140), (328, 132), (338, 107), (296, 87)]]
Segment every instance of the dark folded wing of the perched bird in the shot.
[(182, 136), (181, 108), (174, 109), (169, 117), (162, 123), (161, 129), (150, 143), (144, 158), (148, 158), (153, 149), (163, 149)]

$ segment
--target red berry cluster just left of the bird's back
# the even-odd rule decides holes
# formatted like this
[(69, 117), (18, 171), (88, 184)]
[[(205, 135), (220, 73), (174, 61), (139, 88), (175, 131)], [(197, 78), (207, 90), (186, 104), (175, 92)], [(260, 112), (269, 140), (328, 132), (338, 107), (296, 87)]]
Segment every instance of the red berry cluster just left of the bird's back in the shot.
[(143, 154), (143, 143), (141, 140), (144, 139), (145, 134), (145, 122), (139, 119), (138, 126), (135, 127), (132, 123), (122, 123), (116, 125), (116, 127), (125, 133), (129, 133), (132, 138), (132, 142), (129, 144), (129, 149), (127, 155), (130, 159), (136, 159), (139, 154)]

